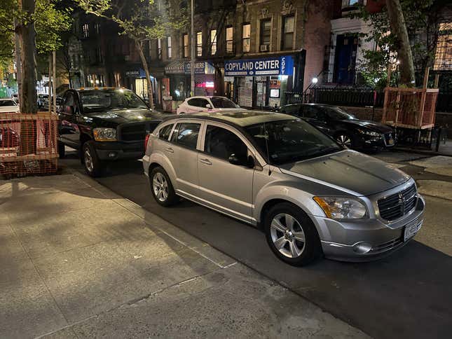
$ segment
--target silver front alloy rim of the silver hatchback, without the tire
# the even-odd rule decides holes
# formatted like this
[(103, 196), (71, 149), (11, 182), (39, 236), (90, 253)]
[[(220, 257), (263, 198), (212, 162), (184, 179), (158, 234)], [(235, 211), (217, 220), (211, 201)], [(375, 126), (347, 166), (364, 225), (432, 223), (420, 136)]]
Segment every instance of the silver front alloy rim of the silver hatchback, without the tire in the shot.
[(303, 254), (306, 237), (294, 216), (285, 213), (276, 215), (270, 224), (270, 235), (276, 249), (283, 256), (298, 258)]

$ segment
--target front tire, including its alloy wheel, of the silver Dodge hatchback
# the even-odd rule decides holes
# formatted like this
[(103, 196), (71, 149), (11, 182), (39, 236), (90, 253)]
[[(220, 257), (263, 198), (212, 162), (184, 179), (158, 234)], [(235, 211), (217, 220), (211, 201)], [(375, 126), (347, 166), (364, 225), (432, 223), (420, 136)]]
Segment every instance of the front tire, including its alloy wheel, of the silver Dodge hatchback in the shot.
[(289, 265), (308, 265), (322, 256), (322, 246), (313, 221), (289, 202), (281, 202), (268, 211), (264, 230), (270, 249)]

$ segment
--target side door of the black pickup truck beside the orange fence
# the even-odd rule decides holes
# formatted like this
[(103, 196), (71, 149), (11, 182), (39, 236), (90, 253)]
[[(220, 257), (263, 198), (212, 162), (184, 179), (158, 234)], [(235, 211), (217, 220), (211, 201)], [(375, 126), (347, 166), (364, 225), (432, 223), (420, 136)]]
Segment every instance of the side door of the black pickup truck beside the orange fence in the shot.
[(58, 113), (60, 118), (59, 132), (61, 141), (74, 148), (78, 148), (80, 141), (80, 130), (76, 121), (78, 111), (74, 93), (71, 91), (66, 92), (63, 98), (62, 108)]

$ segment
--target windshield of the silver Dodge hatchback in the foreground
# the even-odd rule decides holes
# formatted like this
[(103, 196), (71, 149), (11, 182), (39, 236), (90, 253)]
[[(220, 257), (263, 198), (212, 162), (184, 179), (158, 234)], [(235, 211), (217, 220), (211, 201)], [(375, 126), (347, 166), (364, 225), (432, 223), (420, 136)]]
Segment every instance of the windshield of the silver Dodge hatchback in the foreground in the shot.
[(273, 165), (315, 158), (341, 151), (334, 140), (306, 121), (280, 120), (245, 127)]

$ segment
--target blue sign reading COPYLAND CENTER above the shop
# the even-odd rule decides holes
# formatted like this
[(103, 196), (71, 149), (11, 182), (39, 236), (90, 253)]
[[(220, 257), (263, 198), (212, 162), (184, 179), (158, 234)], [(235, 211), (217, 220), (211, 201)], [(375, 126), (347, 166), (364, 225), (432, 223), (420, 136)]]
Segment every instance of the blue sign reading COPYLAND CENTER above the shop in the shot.
[(224, 62), (225, 76), (292, 76), (292, 74), (294, 60), (290, 55)]

